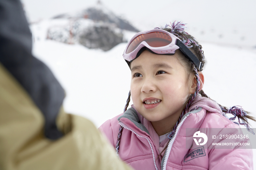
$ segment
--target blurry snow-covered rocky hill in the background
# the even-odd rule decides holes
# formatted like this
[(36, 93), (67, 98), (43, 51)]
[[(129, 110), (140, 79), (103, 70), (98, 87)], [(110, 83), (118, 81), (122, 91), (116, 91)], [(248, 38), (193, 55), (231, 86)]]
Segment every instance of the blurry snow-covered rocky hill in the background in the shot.
[(80, 43), (90, 49), (108, 51), (126, 42), (123, 31), (138, 32), (128, 21), (116, 16), (101, 3), (75, 13), (54, 16), (47, 29), (47, 39)]

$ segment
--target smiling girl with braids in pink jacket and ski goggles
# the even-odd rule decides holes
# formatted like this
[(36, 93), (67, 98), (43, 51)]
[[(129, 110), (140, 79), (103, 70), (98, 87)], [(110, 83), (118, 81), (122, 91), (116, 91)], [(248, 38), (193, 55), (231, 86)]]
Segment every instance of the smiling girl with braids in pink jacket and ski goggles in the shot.
[[(236, 117), (252, 131), (247, 118), (253, 117), (238, 107), (222, 107), (203, 92), (202, 46), (184, 28), (183, 23), (174, 22), (133, 36), (123, 54), (131, 69), (125, 112), (99, 130), (116, 147), (117, 155), (136, 170), (252, 169), (250, 149), (193, 143), (199, 128), (239, 128), (231, 121)], [(133, 105), (126, 110), (130, 96)], [(229, 120), (225, 113), (234, 117)], [(186, 128), (195, 129), (188, 148)]]

